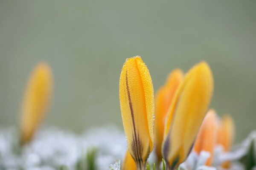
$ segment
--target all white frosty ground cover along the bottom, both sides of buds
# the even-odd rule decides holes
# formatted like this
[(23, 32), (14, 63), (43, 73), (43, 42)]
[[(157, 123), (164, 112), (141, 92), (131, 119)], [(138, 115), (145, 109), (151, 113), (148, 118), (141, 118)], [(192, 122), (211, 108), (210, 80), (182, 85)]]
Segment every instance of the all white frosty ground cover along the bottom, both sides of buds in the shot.
[[(99, 170), (120, 170), (121, 161), (127, 150), (124, 133), (116, 127), (94, 128), (82, 135), (50, 128), (41, 130), (35, 139), (20, 148), (17, 132), (13, 128), (0, 130), (0, 170), (55, 170), (62, 165), (69, 170), (76, 170), (76, 164), (83, 154), (92, 148), (97, 150), (96, 166)], [(247, 156), (251, 151), (256, 156), (256, 131), (235, 146), (230, 153), (224, 153), (221, 146), (215, 148), (213, 167), (205, 166), (209, 153), (202, 151), (199, 155), (192, 152), (179, 170), (222, 170), (221, 164), (231, 160), (230, 170), (246, 170), (244, 164), (237, 160)], [(154, 154), (149, 162), (156, 159)], [(256, 157), (254, 157), (256, 158)], [(115, 162), (116, 161), (116, 162)], [(115, 162), (114, 164), (111, 164)], [(256, 160), (255, 160), (256, 162)], [(160, 168), (161, 169), (161, 168)], [(253, 167), (256, 170), (256, 167)]]

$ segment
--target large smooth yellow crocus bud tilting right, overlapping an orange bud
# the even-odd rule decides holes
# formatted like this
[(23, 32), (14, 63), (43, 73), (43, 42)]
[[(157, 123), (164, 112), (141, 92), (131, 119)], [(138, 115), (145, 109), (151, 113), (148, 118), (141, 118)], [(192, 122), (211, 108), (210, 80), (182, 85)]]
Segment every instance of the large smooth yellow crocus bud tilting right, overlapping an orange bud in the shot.
[(166, 170), (175, 170), (189, 155), (212, 97), (212, 71), (200, 62), (186, 74), (166, 117), (162, 146)]

